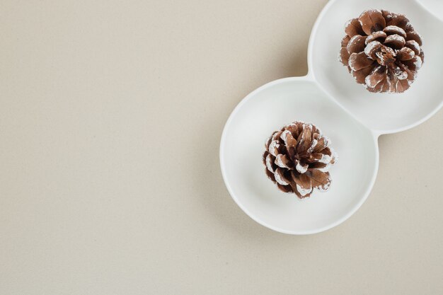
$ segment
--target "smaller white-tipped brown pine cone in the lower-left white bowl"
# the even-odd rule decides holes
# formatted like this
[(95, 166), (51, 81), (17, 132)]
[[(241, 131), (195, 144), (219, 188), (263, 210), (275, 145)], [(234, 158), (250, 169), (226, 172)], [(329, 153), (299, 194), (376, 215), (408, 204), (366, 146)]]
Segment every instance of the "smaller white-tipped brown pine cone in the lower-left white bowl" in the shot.
[(294, 122), (274, 132), (263, 154), (267, 176), (283, 192), (294, 192), (300, 199), (313, 189), (328, 190), (330, 165), (335, 153), (330, 141), (312, 124)]

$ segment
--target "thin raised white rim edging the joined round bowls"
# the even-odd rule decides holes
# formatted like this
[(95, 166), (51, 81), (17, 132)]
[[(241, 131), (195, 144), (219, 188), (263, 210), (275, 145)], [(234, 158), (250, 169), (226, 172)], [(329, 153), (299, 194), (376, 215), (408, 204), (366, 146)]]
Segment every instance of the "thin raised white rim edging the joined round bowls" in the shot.
[[(379, 168), (379, 147), (378, 147), (378, 137), (381, 134), (389, 134), (389, 133), (394, 133), (394, 132), (401, 132), (403, 130), (406, 129), (410, 129), (412, 127), (415, 127), (417, 125), (420, 125), (420, 123), (425, 122), (425, 120), (429, 119), (430, 117), (432, 117), (432, 115), (434, 115), (440, 108), (442, 108), (443, 105), (443, 100), (440, 101), (439, 105), (437, 105), (434, 109), (432, 109), (432, 111), (430, 111), (429, 113), (427, 113), (426, 116), (420, 118), (420, 120), (417, 120), (416, 122), (413, 122), (409, 125), (405, 125), (403, 127), (400, 128), (396, 128), (396, 129), (389, 129), (389, 130), (384, 130), (384, 131), (375, 131), (374, 129), (371, 129), (369, 127), (366, 126), (367, 129), (369, 129), (370, 132), (372, 132), (373, 134), (373, 142), (374, 142), (374, 151), (376, 153), (375, 155), (375, 165), (374, 165), (374, 172), (372, 173), (372, 178), (369, 181), (369, 185), (367, 186), (367, 189), (364, 191), (364, 193), (361, 195), (361, 197), (359, 197), (358, 202), (346, 213), (343, 214), (343, 216), (341, 216), (340, 219), (326, 225), (326, 226), (321, 226), (318, 227), (316, 229), (310, 229), (310, 230), (300, 230), (300, 231), (290, 231), (287, 229), (280, 229), (277, 226), (274, 226), (272, 224), (269, 224), (268, 222), (263, 221), (262, 219), (260, 219), (258, 216), (255, 216), (255, 214), (252, 214), (251, 211), (245, 206), (243, 205), (241, 202), (238, 201), (238, 197), (236, 196), (236, 193), (234, 192), (234, 190), (232, 189), (230, 183), (229, 183), (229, 179), (226, 175), (226, 167), (225, 167), (225, 155), (224, 155), (224, 150), (225, 150), (225, 144), (226, 144), (226, 136), (227, 136), (227, 130), (229, 129), (229, 126), (231, 125), (232, 120), (234, 119), (234, 117), (236, 117), (238, 110), (240, 110), (242, 108), (242, 106), (248, 102), (248, 100), (250, 100), (251, 98), (253, 98), (253, 96), (255, 96), (257, 93), (260, 93), (261, 91), (264, 91), (267, 88), (270, 88), (272, 86), (276, 86), (279, 83), (283, 83), (286, 81), (307, 81), (307, 82), (312, 82), (315, 83), (315, 85), (326, 95), (328, 96), (328, 98), (330, 98), (335, 105), (337, 105), (340, 109), (342, 109), (347, 115), (349, 115), (350, 117), (354, 118), (355, 120), (357, 120), (358, 122), (361, 122), (358, 117), (356, 117), (354, 114), (352, 114), (352, 112), (350, 112), (349, 110), (347, 110), (343, 105), (341, 105), (337, 100), (335, 100), (335, 98), (333, 98), (333, 96), (331, 96), (330, 93), (328, 93), (328, 91), (325, 90), (325, 88), (323, 88), (323, 86), (321, 85), (321, 83), (318, 83), (318, 81), (316, 81), (316, 78), (313, 74), (313, 70), (312, 70), (312, 59), (313, 59), (313, 36), (316, 35), (317, 30), (318, 30), (318, 25), (321, 22), (323, 16), (328, 12), (328, 9), (330, 8), (330, 6), (332, 6), (333, 4), (335, 4), (335, 2), (337, 2), (339, 0), (330, 0), (328, 2), (328, 4), (326, 4), (326, 6), (323, 8), (323, 10), (321, 11), (321, 13), (319, 14), (316, 23), (314, 23), (313, 25), (313, 30), (311, 31), (311, 37), (309, 39), (309, 46), (308, 46), (308, 65), (309, 65), (309, 71), (308, 74), (306, 76), (301, 76), (301, 77), (290, 77), (290, 78), (285, 78), (285, 79), (279, 79), (276, 81), (272, 81), (270, 83), (266, 83), (263, 86), (260, 86), (259, 88), (255, 89), (254, 91), (252, 91), (251, 93), (248, 94), (248, 96), (246, 96), (245, 98), (243, 98), (243, 100), (241, 100), (240, 103), (238, 103), (238, 105), (236, 106), (236, 108), (234, 109), (234, 111), (231, 113), (231, 115), (229, 116), (229, 119), (226, 121), (226, 124), (224, 126), (224, 130), (222, 133), (222, 139), (221, 139), (221, 143), (220, 143), (220, 151), (219, 151), (219, 157), (220, 157), (220, 166), (221, 166), (221, 170), (222, 170), (222, 176), (224, 179), (224, 183), (226, 184), (226, 187), (231, 195), (231, 197), (234, 199), (234, 201), (236, 202), (236, 204), (238, 204), (238, 207), (240, 207), (243, 212), (245, 212), (246, 214), (248, 214), (248, 216), (251, 217), (251, 219), (255, 220), (256, 222), (258, 222), (258, 224), (262, 224), (263, 226), (266, 226), (269, 229), (272, 229), (274, 231), (278, 231), (281, 233), (289, 233), (289, 234), (296, 234), (296, 235), (306, 235), (306, 234), (312, 234), (312, 233), (320, 233), (322, 231), (326, 231), (328, 229), (332, 229), (335, 226), (338, 226), (339, 224), (342, 224), (345, 220), (347, 220), (348, 218), (350, 218), (350, 216), (352, 216), (352, 214), (354, 214), (355, 212), (357, 212), (357, 210), (359, 209), (359, 207), (362, 206), (362, 204), (366, 201), (367, 197), (369, 196), (369, 193), (372, 190), (372, 187), (374, 186), (375, 180), (376, 180), (376, 174), (378, 172), (378, 168)], [(419, 1), (417, 0), (413, 0), (416, 1), (417, 3), (419, 3), (420, 5), (422, 5)]]

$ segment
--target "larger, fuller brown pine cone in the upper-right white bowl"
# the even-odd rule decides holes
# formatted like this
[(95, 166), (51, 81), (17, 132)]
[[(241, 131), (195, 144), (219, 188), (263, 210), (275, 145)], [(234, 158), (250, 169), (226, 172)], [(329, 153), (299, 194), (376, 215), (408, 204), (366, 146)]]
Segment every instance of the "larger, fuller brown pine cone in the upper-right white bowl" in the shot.
[(401, 93), (424, 59), (422, 39), (403, 14), (364, 11), (345, 25), (340, 62), (371, 92)]

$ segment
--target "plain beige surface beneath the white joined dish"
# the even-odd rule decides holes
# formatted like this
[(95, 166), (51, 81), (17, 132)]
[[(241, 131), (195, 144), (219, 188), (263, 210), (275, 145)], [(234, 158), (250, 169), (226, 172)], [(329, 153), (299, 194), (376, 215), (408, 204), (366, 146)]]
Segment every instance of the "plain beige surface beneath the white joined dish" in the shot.
[(321, 1), (0, 1), (0, 294), (442, 294), (443, 114), (314, 236), (229, 197), (219, 139), (306, 74)]

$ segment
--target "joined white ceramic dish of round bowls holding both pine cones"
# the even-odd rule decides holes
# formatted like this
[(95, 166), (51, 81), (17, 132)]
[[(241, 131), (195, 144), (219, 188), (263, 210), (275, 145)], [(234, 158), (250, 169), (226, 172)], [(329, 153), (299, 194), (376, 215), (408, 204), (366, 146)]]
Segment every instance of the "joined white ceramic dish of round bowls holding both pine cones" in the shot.
[[(404, 13), (424, 40), (425, 64), (402, 94), (369, 93), (337, 61), (344, 23), (369, 8)], [(309, 74), (265, 84), (244, 98), (226, 122), (220, 165), (229, 193), (263, 226), (292, 234), (337, 226), (362, 205), (379, 166), (377, 138), (400, 132), (442, 107), (443, 29), (439, 18), (416, 0), (332, 0), (318, 16), (309, 40)], [(274, 105), (284, 110), (271, 112)], [(333, 184), (300, 201), (267, 179), (261, 156), (267, 137), (295, 120), (312, 122), (328, 136), (339, 156), (330, 170)]]

